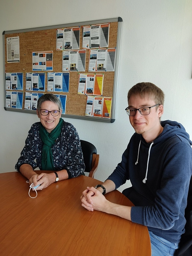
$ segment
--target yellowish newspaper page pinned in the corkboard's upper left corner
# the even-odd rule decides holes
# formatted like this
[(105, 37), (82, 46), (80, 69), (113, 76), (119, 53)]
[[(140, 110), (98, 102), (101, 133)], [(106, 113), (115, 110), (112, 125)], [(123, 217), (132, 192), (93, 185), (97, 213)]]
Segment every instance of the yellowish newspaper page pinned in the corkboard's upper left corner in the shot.
[(7, 37), (6, 59), (7, 62), (20, 62), (19, 37)]

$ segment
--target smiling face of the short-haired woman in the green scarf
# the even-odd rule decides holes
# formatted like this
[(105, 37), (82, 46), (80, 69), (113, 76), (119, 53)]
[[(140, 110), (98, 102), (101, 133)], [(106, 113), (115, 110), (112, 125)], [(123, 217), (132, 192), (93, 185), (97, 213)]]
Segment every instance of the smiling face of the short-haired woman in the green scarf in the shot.
[[(59, 107), (57, 104), (47, 100), (41, 104), (40, 110), (41, 109), (53, 111), (53, 110), (59, 110)], [(47, 132), (50, 133), (58, 125), (59, 119), (61, 117), (62, 109), (60, 109), (60, 113), (57, 117), (52, 116), (51, 113), (49, 113), (48, 115), (41, 115), (40, 110), (39, 111), (37, 110), (37, 115), (40, 118), (41, 124), (45, 127)]]

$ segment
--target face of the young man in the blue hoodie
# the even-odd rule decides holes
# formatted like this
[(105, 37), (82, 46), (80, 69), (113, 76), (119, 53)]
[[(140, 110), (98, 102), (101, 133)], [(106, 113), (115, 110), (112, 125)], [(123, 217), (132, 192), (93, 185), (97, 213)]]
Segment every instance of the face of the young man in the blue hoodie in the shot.
[[(158, 103), (158, 102), (157, 102)], [(138, 95), (131, 96), (129, 98), (129, 108), (141, 108), (143, 106), (154, 106), (154, 100), (151, 100), (148, 97), (141, 98)], [(154, 137), (155, 135), (159, 135), (160, 132), (160, 117), (163, 114), (163, 106), (158, 106), (157, 110), (156, 107), (150, 109), (149, 115), (141, 115), (139, 111), (136, 111), (134, 116), (129, 116), (129, 121), (133, 126), (134, 130), (138, 134), (142, 134), (144, 139), (149, 137)], [(156, 137), (157, 137), (156, 136)]]

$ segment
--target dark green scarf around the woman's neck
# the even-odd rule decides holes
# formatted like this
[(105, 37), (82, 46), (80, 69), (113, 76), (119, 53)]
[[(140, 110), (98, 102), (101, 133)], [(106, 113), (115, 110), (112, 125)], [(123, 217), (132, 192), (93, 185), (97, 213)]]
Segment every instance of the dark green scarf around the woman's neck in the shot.
[(47, 132), (45, 127), (40, 124), (39, 127), (39, 133), (41, 136), (41, 140), (43, 141), (43, 150), (42, 150), (42, 160), (41, 160), (41, 165), (42, 165), (42, 170), (50, 170), (50, 171), (56, 171), (56, 169), (53, 166), (53, 154), (51, 147), (55, 144), (56, 139), (59, 137), (61, 134), (61, 128), (63, 126), (63, 119), (59, 119), (59, 123), (52, 130), (52, 132)]

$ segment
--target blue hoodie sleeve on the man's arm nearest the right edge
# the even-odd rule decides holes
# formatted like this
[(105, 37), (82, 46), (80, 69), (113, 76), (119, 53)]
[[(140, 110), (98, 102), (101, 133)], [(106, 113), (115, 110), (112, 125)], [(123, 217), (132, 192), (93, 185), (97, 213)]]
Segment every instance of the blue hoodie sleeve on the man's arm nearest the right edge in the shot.
[[(170, 148), (164, 161), (161, 187), (153, 206), (133, 206), (131, 219), (152, 228), (177, 230), (183, 226), (188, 188), (192, 175), (192, 148), (179, 142)], [(180, 215), (179, 215), (180, 214)]]

